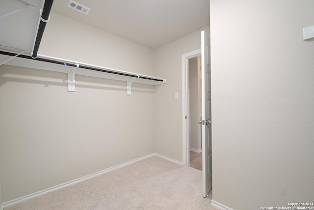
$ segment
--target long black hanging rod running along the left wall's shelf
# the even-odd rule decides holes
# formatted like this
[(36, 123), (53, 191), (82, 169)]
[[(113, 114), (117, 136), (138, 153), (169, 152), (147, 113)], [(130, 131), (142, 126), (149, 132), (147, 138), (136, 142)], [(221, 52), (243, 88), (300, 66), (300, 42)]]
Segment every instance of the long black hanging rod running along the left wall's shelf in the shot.
[[(60, 64), (60, 65), (65, 65), (65, 66), (77, 67), (76, 63), (61, 62), (61, 61), (58, 61), (58, 60), (43, 59), (43, 58), (33, 59), (31, 56), (18, 55), (18, 54), (15, 54), (15, 53), (9, 53), (9, 52), (5, 52), (5, 51), (0, 51), (0, 54), (1, 55), (6, 55), (6, 56), (19, 57), (19, 58), (23, 58), (23, 59), (38, 60), (38, 61), (44, 61), (44, 62), (49, 62), (49, 63), (56, 63), (56, 64)], [(146, 80), (153, 80), (153, 81), (158, 81), (158, 82), (164, 82), (164, 80), (161, 80), (161, 79), (145, 77), (145, 76), (140, 76), (140, 75), (136, 75), (136, 74), (128, 74), (128, 73), (123, 73), (123, 72), (118, 72), (118, 71), (112, 71), (110, 69), (105, 69), (105, 68), (90, 67), (90, 66), (86, 66), (86, 65), (82, 65), (82, 64), (79, 64), (78, 68), (89, 69), (89, 70), (94, 70), (94, 71), (101, 71), (101, 72), (105, 72), (105, 73), (117, 74), (117, 75), (128, 76), (128, 77), (135, 77), (135, 78), (139, 78), (139, 79), (146, 79)]]

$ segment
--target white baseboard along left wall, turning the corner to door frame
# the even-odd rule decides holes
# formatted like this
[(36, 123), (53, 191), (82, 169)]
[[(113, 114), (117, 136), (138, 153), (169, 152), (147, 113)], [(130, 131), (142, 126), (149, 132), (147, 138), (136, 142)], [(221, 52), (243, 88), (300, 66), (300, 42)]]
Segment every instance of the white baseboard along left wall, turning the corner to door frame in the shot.
[(142, 156), (142, 157), (139, 157), (139, 158), (130, 160), (130, 161), (128, 161), (128, 162), (121, 163), (121, 164), (119, 164), (119, 165), (116, 165), (116, 166), (107, 168), (107, 169), (105, 169), (105, 170), (96, 172), (96, 173), (94, 173), (94, 174), (90, 174), (90, 175), (87, 175), (87, 176), (78, 178), (78, 179), (76, 179), (76, 180), (71, 180), (71, 181), (68, 181), (68, 182), (65, 182), (65, 183), (62, 183), (62, 184), (59, 184), (59, 185), (56, 185), (56, 186), (47, 188), (47, 189), (40, 190), (40, 191), (38, 191), (38, 192), (31, 193), (31, 194), (29, 194), (29, 195), (26, 195), (26, 196), (23, 196), (23, 197), (20, 197), (20, 198), (13, 199), (13, 200), (11, 200), (11, 201), (3, 202), (3, 203), (0, 205), (0, 210), (3, 210), (4, 208), (8, 208), (8, 207), (10, 207), (10, 206), (13, 206), (13, 205), (16, 205), (16, 204), (19, 204), (19, 203), (22, 203), (22, 202), (25, 202), (25, 201), (30, 200), (30, 199), (33, 199), (33, 198), (36, 198), (36, 197), (38, 197), (38, 196), (45, 195), (45, 194), (47, 194), (47, 193), (56, 191), (56, 190), (58, 190), (58, 189), (62, 189), (62, 188), (64, 188), (64, 187), (68, 187), (68, 186), (73, 185), (73, 184), (76, 184), (76, 183), (78, 183), (78, 182), (81, 182), (81, 181), (84, 181), (84, 180), (89, 180), (89, 179), (92, 179), (92, 178), (94, 178), (94, 177), (98, 177), (98, 176), (103, 175), (103, 174), (105, 174), (105, 173), (108, 173), (108, 172), (110, 172), (110, 171), (113, 171), (113, 170), (122, 168), (122, 167), (124, 167), (124, 166), (130, 165), (130, 164), (132, 164), (132, 163), (135, 163), (135, 162), (137, 162), (137, 161), (140, 161), (140, 160), (143, 160), (143, 159), (145, 159), (145, 158), (152, 157), (152, 156), (158, 156), (158, 157), (164, 158), (164, 159), (166, 159), (166, 160), (168, 160), (168, 161), (171, 161), (171, 162), (174, 162), (174, 163), (183, 165), (183, 163), (180, 162), (180, 161), (178, 161), (178, 160), (172, 159), (172, 158), (170, 158), (170, 157), (166, 157), (166, 156), (164, 156), (164, 155), (162, 155), (162, 154), (151, 153), (151, 154), (148, 154), (148, 155), (145, 155), (145, 156)]

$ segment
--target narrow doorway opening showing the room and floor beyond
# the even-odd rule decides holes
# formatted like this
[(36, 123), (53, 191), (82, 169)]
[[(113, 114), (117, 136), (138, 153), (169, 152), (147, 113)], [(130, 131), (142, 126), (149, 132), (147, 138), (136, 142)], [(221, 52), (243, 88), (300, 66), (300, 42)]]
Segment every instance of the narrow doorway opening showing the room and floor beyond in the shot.
[(201, 56), (188, 60), (190, 167), (202, 171), (202, 72)]

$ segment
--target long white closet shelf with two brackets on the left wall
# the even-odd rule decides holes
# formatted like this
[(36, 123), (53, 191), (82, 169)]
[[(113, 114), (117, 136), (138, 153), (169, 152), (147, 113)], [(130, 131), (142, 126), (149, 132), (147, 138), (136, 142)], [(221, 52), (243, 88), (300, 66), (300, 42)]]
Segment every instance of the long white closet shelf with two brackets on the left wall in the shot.
[[(128, 95), (131, 95), (132, 83), (146, 85), (160, 85), (166, 83), (166, 79), (106, 68), (74, 60), (64, 60), (44, 55), (38, 55), (37, 59), (31, 59), (30, 56), (16, 55), (17, 54), (14, 53), (0, 51), (0, 58), (1, 60), (7, 60), (5, 61), (5, 64), (7, 65), (68, 73), (68, 91), (75, 91), (75, 75), (125, 81), (127, 82)], [(12, 59), (12, 56), (16, 56), (16, 58)]]

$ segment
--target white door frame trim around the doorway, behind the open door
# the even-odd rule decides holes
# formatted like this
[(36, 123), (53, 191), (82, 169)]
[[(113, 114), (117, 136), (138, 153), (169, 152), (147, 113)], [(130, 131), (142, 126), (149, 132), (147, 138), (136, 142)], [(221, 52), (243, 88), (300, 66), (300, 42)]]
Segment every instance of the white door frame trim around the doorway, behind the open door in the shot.
[[(182, 148), (183, 165), (190, 165), (190, 136), (189, 136), (189, 104), (188, 104), (188, 60), (201, 56), (201, 48), (182, 55)], [(187, 116), (187, 118), (185, 118)]]

